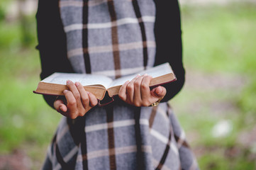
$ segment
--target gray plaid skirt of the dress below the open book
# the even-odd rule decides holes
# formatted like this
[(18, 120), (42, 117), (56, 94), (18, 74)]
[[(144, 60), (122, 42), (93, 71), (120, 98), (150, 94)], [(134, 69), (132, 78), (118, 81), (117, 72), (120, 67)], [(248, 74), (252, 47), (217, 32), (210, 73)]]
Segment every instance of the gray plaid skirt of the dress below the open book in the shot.
[(198, 169), (184, 131), (166, 103), (95, 108), (62, 118), (43, 169)]

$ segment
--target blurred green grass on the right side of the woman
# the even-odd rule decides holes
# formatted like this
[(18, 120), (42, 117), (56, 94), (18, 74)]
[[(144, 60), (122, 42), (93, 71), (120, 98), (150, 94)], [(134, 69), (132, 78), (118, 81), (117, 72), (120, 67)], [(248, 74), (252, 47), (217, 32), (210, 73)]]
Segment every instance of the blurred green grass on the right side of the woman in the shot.
[[(256, 168), (256, 140), (250, 139), (256, 125), (255, 7), (182, 6), (188, 81), (170, 103), (201, 169)], [(232, 131), (213, 137), (221, 120), (229, 120)]]

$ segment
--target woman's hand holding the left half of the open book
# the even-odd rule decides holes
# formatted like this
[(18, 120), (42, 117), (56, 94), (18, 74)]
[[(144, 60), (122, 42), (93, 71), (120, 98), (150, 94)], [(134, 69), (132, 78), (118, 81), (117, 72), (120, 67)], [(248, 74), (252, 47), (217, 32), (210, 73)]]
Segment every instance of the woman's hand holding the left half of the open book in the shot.
[(85, 91), (79, 82), (74, 84), (68, 80), (67, 87), (69, 90), (63, 91), (66, 100), (57, 99), (53, 104), (56, 111), (62, 115), (74, 119), (78, 116), (83, 116), (98, 103), (94, 94)]

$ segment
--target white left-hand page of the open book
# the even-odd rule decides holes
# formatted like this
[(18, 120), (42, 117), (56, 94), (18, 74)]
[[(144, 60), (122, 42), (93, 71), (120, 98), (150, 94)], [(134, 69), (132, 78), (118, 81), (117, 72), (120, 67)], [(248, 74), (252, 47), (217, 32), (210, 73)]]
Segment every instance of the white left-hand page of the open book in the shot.
[(54, 73), (50, 77), (43, 79), (42, 82), (52, 84), (66, 84), (66, 81), (80, 82), (83, 86), (101, 84), (105, 88), (111, 84), (112, 79), (96, 74), (76, 74), (76, 73)]

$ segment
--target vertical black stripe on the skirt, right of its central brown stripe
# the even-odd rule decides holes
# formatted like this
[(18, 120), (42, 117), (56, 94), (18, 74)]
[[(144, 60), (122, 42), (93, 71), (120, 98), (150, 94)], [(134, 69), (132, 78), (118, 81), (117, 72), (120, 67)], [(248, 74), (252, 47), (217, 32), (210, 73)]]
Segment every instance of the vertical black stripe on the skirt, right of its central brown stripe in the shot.
[(137, 168), (136, 169), (145, 169), (144, 162), (143, 162), (143, 149), (142, 149), (142, 141), (141, 141), (141, 134), (140, 134), (140, 109), (135, 108), (134, 112), (134, 119), (135, 119), (135, 139), (136, 139), (136, 146), (137, 146), (137, 154), (136, 154), (136, 162)]

